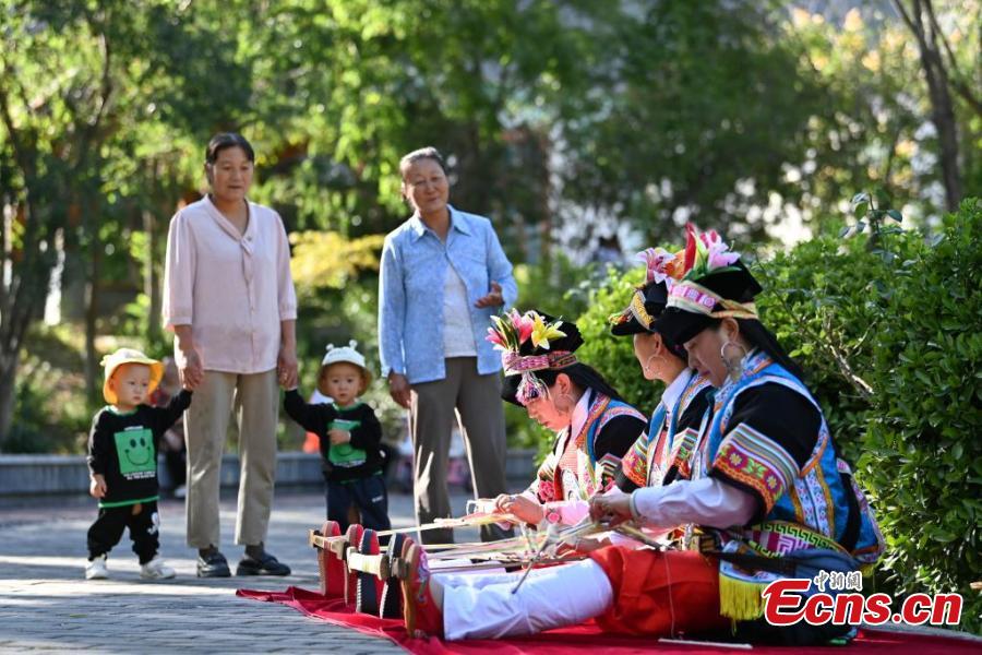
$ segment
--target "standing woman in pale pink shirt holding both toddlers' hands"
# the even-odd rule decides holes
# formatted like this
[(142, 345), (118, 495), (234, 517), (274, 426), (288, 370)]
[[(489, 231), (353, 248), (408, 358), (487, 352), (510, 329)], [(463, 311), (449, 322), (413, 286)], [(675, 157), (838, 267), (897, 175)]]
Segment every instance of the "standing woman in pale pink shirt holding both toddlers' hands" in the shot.
[(297, 383), (297, 297), (279, 215), (246, 198), (255, 154), (239, 134), (208, 143), (211, 192), (170, 222), (164, 322), (175, 332), (181, 377), (195, 389), (185, 414), (188, 545), (197, 575), (227, 577), (218, 550), (221, 455), (232, 407), (238, 418), (239, 512), (236, 543), (246, 545), (237, 575), (287, 575), (263, 548), (276, 472), (277, 382)]

